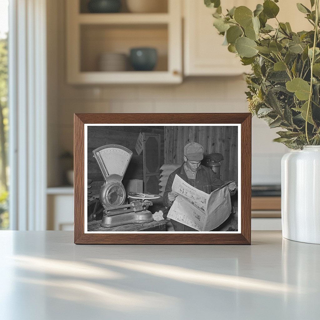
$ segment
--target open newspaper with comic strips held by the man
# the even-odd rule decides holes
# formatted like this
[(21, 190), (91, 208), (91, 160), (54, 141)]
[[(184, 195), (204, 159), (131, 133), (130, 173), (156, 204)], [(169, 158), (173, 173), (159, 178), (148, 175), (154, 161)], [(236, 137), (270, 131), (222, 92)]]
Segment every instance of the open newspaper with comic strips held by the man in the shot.
[(168, 218), (198, 231), (211, 231), (219, 227), (231, 213), (228, 184), (235, 181), (224, 183), (209, 195), (176, 175), (172, 192), (177, 192), (178, 196), (169, 210)]

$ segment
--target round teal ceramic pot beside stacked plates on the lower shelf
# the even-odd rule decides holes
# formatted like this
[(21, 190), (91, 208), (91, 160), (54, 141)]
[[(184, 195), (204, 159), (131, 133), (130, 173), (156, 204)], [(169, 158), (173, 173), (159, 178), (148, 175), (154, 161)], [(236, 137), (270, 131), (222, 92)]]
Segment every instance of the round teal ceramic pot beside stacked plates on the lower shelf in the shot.
[(155, 48), (132, 48), (130, 61), (136, 71), (151, 71), (155, 68), (158, 60)]

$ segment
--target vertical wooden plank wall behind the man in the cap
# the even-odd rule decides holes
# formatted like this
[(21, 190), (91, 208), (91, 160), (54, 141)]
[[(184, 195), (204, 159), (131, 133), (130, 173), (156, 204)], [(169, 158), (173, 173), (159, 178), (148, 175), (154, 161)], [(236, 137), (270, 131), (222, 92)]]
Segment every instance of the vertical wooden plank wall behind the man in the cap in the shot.
[(236, 126), (165, 126), (164, 163), (183, 163), (183, 149), (189, 142), (204, 147), (204, 155), (221, 153), (221, 180), (238, 177), (238, 127)]

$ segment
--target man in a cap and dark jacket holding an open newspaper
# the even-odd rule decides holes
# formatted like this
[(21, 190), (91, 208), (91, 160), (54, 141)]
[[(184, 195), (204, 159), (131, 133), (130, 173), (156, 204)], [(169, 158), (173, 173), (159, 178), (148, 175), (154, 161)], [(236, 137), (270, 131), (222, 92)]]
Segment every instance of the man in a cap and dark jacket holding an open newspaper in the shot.
[(168, 217), (175, 231), (210, 231), (218, 227), (215, 226), (219, 221), (217, 215), (226, 204), (226, 193), (236, 192), (234, 181), (226, 184), (211, 169), (201, 165), (203, 151), (200, 144), (188, 143), (184, 147), (184, 163), (168, 178), (164, 205), (171, 207)]

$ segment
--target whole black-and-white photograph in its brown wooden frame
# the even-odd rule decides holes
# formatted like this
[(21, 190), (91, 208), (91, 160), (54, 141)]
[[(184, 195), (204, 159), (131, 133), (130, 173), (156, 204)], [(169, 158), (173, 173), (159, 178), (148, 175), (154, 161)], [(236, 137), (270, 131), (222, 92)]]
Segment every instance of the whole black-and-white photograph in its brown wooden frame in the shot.
[(251, 114), (75, 114), (75, 244), (251, 244)]

